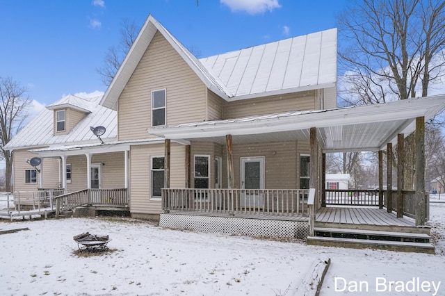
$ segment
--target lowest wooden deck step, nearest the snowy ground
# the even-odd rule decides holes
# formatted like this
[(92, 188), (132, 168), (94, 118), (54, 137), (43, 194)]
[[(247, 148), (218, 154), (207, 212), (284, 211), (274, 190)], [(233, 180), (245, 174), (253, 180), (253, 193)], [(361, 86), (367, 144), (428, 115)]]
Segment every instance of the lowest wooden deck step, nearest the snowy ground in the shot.
[(429, 242), (395, 242), (391, 240), (363, 240), (358, 238), (328, 238), (321, 236), (308, 236), (307, 244), (327, 247), (349, 247), (355, 249), (371, 248), (398, 252), (422, 252), (435, 254), (435, 248)]

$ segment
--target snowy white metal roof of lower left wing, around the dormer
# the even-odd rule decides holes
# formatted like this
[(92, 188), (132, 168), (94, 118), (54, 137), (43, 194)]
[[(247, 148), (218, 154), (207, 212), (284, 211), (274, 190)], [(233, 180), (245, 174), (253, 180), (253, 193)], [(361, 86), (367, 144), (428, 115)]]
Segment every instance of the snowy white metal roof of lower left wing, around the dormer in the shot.
[[(72, 131), (67, 134), (54, 135), (54, 106), (67, 106), (67, 101), (72, 99), (72, 95), (51, 104), (51, 107), (45, 108), (31, 120), (24, 128), (8, 142), (5, 149), (19, 149), (29, 147), (42, 147), (63, 143), (70, 145), (77, 142), (97, 142), (97, 137), (90, 131), (90, 126), (105, 126), (106, 133), (102, 136), (103, 140), (117, 138), (117, 112), (110, 108), (99, 105), (101, 97), (82, 99), (76, 97), (76, 102), (82, 108), (87, 108), (90, 113), (74, 126)], [(87, 112), (86, 112), (87, 113)]]

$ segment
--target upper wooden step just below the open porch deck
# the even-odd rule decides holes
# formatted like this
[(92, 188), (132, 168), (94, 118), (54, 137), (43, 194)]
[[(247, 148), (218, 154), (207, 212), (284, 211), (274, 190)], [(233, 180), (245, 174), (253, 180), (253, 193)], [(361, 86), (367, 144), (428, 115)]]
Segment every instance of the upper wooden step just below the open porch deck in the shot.
[(366, 229), (314, 227), (314, 233), (316, 234), (316, 236), (332, 238), (389, 240), (401, 242), (430, 242), (430, 236), (426, 233), (412, 233), (403, 231), (378, 231)]

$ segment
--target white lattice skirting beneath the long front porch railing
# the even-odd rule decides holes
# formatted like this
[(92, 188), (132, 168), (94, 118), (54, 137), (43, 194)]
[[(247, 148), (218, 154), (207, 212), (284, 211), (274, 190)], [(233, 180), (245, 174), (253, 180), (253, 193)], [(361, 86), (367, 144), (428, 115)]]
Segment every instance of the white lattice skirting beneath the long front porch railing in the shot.
[(307, 220), (289, 221), (161, 213), (159, 226), (171, 229), (266, 238), (307, 238), (309, 235)]

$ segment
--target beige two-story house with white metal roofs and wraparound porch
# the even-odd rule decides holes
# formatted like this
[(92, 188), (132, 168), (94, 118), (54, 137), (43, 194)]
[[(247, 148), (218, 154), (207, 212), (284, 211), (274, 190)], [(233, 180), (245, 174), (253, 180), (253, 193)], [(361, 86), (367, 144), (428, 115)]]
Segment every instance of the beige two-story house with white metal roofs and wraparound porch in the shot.
[[(7, 145), (15, 190), (120, 190), (133, 217), (165, 226), (238, 215), (215, 223), (262, 235), (291, 220), (307, 235), (308, 203), (325, 206), (325, 153), (381, 151), (445, 107), (442, 96), (337, 108), (336, 90), (335, 28), (197, 59), (149, 15), (102, 98), (60, 99)], [(252, 214), (275, 220), (241, 217)]]

